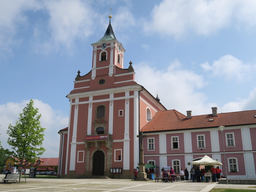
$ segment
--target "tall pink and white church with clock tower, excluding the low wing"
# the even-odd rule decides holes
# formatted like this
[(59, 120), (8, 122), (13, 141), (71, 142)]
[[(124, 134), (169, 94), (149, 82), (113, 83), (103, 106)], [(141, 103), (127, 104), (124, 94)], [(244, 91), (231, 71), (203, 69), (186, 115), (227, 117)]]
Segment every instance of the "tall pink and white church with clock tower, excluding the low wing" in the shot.
[(166, 110), (134, 81), (132, 62), (124, 68), (125, 49), (109, 18), (105, 35), (92, 44), (91, 71), (83, 76), (78, 71), (67, 95), (69, 125), (59, 131), (61, 177), (132, 178), (139, 163), (137, 135), (157, 111)]

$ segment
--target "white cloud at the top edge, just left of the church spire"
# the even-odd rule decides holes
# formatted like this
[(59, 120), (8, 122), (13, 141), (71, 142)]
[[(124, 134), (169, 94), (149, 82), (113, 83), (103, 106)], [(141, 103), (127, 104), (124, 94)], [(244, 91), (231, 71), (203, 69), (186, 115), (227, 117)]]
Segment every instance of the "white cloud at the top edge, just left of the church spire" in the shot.
[[(93, 12), (89, 1), (48, 0), (44, 1), (44, 6), (49, 14), (49, 23), (46, 29), (42, 29), (40, 25), (35, 26), (33, 41), (36, 42), (38, 52), (47, 53), (62, 46), (71, 49), (76, 40), (93, 33), (93, 19), (97, 14)], [(49, 38), (45, 31), (50, 33)]]

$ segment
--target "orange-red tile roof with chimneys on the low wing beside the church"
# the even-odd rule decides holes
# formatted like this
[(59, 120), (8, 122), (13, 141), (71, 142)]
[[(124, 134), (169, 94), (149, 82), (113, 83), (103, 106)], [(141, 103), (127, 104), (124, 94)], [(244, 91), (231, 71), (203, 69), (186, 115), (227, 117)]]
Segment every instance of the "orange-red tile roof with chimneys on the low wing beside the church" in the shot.
[[(187, 119), (185, 115), (176, 111), (158, 111), (155, 116), (146, 124), (141, 131), (170, 131), (194, 128), (211, 128), (233, 125), (256, 124), (256, 110), (238, 111), (230, 113), (218, 113), (218, 116), (198, 115)], [(213, 119), (210, 121), (209, 119)]]

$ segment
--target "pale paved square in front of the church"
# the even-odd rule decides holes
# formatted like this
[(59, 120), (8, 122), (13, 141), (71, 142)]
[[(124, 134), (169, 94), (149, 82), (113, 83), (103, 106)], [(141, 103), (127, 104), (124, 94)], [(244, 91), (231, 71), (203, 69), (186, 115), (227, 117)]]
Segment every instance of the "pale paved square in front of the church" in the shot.
[[(0, 175), (2, 179), (4, 175)], [(212, 188), (249, 188), (256, 185), (227, 185), (218, 183), (191, 183), (178, 181), (175, 183), (155, 183), (154, 180), (134, 181), (128, 179), (48, 179), (48, 178), (22, 178), (21, 183), (0, 183), (0, 192), (29, 191), (29, 192), (209, 192)]]

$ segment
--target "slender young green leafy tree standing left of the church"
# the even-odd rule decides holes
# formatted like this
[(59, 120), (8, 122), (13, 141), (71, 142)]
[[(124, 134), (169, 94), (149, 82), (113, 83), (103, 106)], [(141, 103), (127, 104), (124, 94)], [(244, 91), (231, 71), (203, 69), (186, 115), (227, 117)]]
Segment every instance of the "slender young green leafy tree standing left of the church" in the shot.
[(10, 124), (7, 130), (9, 135), (7, 143), (12, 148), (9, 154), (22, 160), (21, 162), (23, 160), (35, 162), (35, 159), (45, 151), (42, 147), (45, 128), (41, 127), (39, 121), (41, 114), (38, 114), (38, 108), (34, 108), (33, 104), (31, 99), (23, 109), (23, 113), (20, 113), (19, 121), (16, 122), (15, 126)]

